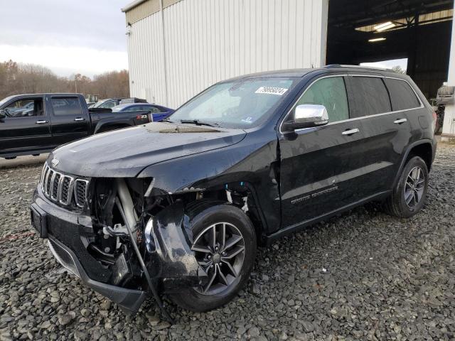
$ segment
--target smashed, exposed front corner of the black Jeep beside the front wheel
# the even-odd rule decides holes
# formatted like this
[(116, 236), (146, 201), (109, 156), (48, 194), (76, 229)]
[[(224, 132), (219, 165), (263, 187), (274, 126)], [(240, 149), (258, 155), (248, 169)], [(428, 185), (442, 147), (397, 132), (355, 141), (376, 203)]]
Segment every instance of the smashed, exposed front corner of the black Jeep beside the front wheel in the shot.
[[(112, 185), (114, 183), (114, 185)], [(169, 292), (200, 281), (198, 262), (191, 251), (192, 233), (183, 202), (153, 188), (153, 179), (97, 179), (92, 216), (97, 239), (92, 255), (112, 266), (112, 282), (120, 286), (144, 283), (137, 262), (129, 254), (135, 242), (154, 286)], [(134, 241), (129, 237), (130, 227)], [(134, 257), (133, 257), (134, 259)]]

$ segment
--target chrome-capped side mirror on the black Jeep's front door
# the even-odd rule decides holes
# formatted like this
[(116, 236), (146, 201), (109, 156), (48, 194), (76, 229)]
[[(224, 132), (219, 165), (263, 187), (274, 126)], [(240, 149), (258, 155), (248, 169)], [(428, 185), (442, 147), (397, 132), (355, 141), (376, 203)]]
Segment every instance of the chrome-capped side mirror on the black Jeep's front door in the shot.
[(294, 115), (284, 122), (286, 131), (323, 126), (328, 124), (328, 113), (326, 107), (319, 104), (301, 104), (294, 109)]

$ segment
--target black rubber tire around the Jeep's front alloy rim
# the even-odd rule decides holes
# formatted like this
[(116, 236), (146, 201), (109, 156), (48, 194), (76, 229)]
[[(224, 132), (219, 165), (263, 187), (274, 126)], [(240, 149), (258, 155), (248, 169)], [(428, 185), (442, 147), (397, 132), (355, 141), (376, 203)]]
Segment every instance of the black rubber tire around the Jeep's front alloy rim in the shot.
[[(231, 283), (226, 286), (225, 289), (221, 288), (220, 292), (216, 292), (213, 294), (210, 293), (202, 293), (203, 287), (201, 288), (185, 288), (178, 293), (172, 293), (170, 295), (171, 300), (180, 305), (182, 308), (186, 310), (191, 310), (195, 312), (203, 312), (207, 310), (212, 310), (215, 308), (219, 308), (222, 305), (232, 301), (232, 298), (235, 298), (237, 292), (245, 285), (250, 277), (250, 272), (252, 270), (252, 266), (255, 263), (255, 256), (256, 256), (256, 248), (257, 248), (257, 239), (255, 234), (255, 229), (252, 225), (250, 219), (245, 215), (245, 212), (240, 210), (239, 208), (229, 205), (229, 204), (220, 204), (217, 202), (215, 205), (203, 208), (201, 212), (198, 212), (192, 219), (191, 219), (191, 229), (193, 230), (193, 245), (196, 245), (198, 240), (205, 240), (202, 239), (205, 235), (204, 232), (207, 231), (213, 225), (228, 223), (232, 224), (238, 232), (241, 233), (241, 237), (243, 238), (243, 245), (245, 247), (245, 251), (243, 252), (243, 262), (241, 267), (238, 271), (235, 271), (237, 276), (231, 276), (230, 279), (232, 280)], [(223, 225), (224, 226), (224, 225)], [(230, 225), (228, 226), (230, 227)], [(216, 229), (215, 229), (216, 231)], [(215, 240), (218, 239), (218, 232), (215, 234)], [(225, 235), (228, 235), (226, 233)], [(233, 234), (232, 234), (233, 236)], [(199, 237), (199, 239), (198, 239)], [(229, 239), (230, 240), (230, 239)], [(225, 242), (225, 244), (228, 244)], [(224, 246), (223, 246), (224, 247)], [(221, 251), (221, 250), (220, 250)], [(198, 255), (198, 252), (195, 252)], [(225, 253), (223, 253), (225, 254)], [(220, 255), (220, 254), (218, 254)], [(199, 254), (200, 257), (200, 254)], [(237, 256), (238, 257), (238, 256)], [(198, 256), (197, 256), (198, 258)], [(199, 260), (199, 259), (198, 259)], [(221, 264), (222, 261), (219, 261)], [(213, 264), (215, 264), (215, 256), (213, 256)], [(225, 267), (228, 266), (227, 264), (223, 264)], [(232, 266), (230, 266), (232, 268)], [(211, 271), (221, 271), (222, 266), (218, 266), (215, 264), (215, 268)], [(224, 271), (225, 268), (223, 268)], [(210, 269), (208, 270), (208, 274), (210, 274)], [(216, 275), (218, 278), (219, 275)], [(223, 276), (224, 277), (224, 276)], [(227, 278), (228, 276), (226, 276)], [(210, 276), (208, 276), (210, 278)], [(235, 278), (235, 279), (232, 279)], [(216, 284), (218, 285), (218, 284)], [(220, 286), (220, 285), (218, 285)]]

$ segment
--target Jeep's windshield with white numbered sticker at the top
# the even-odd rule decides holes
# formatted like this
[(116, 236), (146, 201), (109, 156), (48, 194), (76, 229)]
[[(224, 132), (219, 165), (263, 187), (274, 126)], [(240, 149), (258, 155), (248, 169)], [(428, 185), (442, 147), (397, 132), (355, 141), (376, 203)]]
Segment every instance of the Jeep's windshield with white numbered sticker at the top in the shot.
[(266, 121), (299, 78), (270, 77), (223, 82), (183, 104), (168, 119), (245, 129)]

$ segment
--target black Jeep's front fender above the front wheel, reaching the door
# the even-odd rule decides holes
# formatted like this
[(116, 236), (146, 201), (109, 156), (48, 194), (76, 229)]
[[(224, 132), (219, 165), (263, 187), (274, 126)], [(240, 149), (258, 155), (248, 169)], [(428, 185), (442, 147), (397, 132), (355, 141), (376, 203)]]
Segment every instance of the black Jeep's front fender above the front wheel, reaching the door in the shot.
[(168, 194), (244, 183), (255, 196), (264, 232), (269, 233), (281, 224), (277, 169), (277, 140), (273, 139), (156, 163), (141, 171), (138, 177), (154, 178), (154, 188)]

